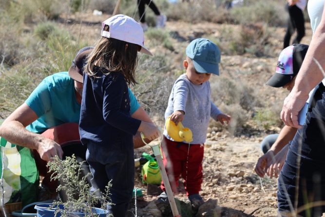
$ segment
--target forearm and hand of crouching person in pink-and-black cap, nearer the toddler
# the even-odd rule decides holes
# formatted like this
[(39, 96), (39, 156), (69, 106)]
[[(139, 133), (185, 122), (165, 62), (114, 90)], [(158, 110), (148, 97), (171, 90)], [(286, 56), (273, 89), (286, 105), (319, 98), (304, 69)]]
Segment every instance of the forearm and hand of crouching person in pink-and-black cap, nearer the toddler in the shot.
[[(274, 163), (281, 163), (276, 162), (274, 156), (277, 155), (283, 149), (283, 147), (285, 147), (289, 141), (293, 139), (296, 132), (297, 128), (294, 127), (284, 126), (282, 128), (278, 138), (275, 140), (268, 152), (265, 153), (261, 158), (258, 158), (255, 166), (255, 172), (258, 176), (263, 178), (265, 173), (267, 173), (270, 178), (273, 177), (274, 168), (272, 167), (272, 169), (270, 169), (270, 167), (274, 165)], [(277, 177), (277, 174), (275, 177)]]

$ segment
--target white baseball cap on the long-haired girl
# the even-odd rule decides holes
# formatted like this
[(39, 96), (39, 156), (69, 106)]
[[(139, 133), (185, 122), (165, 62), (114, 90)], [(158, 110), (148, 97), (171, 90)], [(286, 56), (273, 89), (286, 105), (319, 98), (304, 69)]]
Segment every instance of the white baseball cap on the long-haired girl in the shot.
[[(109, 32), (104, 31), (105, 25), (110, 27)], [(141, 53), (153, 56), (144, 46), (144, 34), (140, 23), (126, 15), (118, 14), (102, 22), (101, 36), (140, 45)]]

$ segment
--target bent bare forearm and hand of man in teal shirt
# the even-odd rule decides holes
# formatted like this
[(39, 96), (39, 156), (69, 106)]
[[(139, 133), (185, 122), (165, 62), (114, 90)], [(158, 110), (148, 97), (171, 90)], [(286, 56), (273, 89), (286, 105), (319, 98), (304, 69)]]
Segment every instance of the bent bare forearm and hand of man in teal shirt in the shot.
[(43, 160), (49, 161), (56, 155), (62, 158), (63, 151), (55, 141), (25, 129), (36, 119), (37, 114), (23, 103), (3, 121), (0, 136), (19, 146), (36, 149)]

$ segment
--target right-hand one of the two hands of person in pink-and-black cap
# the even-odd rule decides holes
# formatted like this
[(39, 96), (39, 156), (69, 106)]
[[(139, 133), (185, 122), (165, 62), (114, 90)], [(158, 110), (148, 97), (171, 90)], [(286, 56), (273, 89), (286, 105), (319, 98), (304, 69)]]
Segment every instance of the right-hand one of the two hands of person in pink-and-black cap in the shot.
[(271, 163), (267, 165), (266, 172), (270, 178), (273, 178), (273, 174), (275, 178), (278, 178), (280, 171), (282, 170), (283, 164), (287, 158), (287, 153), (289, 149), (289, 144), (287, 144), (281, 151), (274, 156)]

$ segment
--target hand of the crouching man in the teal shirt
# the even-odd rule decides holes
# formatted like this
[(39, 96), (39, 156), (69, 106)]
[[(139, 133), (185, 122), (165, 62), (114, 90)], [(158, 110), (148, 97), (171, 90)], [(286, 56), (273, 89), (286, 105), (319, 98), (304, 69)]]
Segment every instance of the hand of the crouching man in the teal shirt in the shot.
[(63, 151), (61, 146), (49, 138), (43, 137), (37, 144), (38, 154), (41, 159), (51, 161), (53, 157), (58, 156), (62, 159)]

